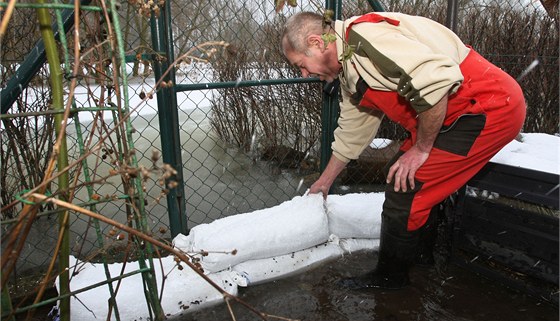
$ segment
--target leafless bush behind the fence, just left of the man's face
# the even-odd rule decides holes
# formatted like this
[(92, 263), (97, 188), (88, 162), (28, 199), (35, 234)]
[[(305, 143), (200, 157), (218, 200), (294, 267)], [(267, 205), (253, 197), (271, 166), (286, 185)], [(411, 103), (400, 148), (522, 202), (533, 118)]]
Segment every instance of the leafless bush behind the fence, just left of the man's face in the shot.
[[(261, 59), (249, 59), (244, 46), (231, 46), (223, 59), (215, 62), (216, 79), (285, 79), (298, 72), (284, 63), (276, 43), (279, 30), (265, 28)], [(212, 127), (224, 141), (258, 153), (267, 159), (278, 159), (278, 151), (293, 152), (297, 167), (307, 152), (317, 148), (320, 137), (321, 90), (316, 83), (239, 87), (220, 90), (212, 102)], [(315, 150), (316, 152), (316, 150)], [(282, 158), (282, 157), (280, 157)]]

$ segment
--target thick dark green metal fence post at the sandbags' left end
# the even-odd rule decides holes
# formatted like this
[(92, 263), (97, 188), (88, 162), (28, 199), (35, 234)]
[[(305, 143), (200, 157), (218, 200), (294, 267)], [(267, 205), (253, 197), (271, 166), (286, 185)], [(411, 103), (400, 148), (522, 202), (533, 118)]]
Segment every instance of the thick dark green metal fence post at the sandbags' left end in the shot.
[[(151, 19), (152, 46), (156, 52), (165, 52), (166, 59), (153, 59), (153, 68), (156, 81), (161, 79), (169, 66), (173, 63), (174, 52), (171, 31), (171, 4), (165, 2), (165, 8), (160, 16)], [(160, 139), (163, 162), (177, 170), (177, 187), (169, 190), (167, 206), (169, 212), (169, 225), (171, 236), (187, 233), (187, 213), (185, 205), (185, 190), (183, 179), (183, 160), (181, 157), (181, 141), (179, 137), (179, 114), (177, 111), (177, 91), (175, 88), (175, 68), (164, 77), (165, 86), (157, 91), (158, 118), (160, 126)]]

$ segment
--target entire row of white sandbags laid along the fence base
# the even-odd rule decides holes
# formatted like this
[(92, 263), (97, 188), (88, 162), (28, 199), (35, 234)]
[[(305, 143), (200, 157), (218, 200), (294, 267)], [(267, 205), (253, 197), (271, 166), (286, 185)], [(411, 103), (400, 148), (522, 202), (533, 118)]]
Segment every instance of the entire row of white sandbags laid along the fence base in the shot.
[[(228, 293), (237, 295), (239, 286), (301, 273), (345, 253), (376, 249), (383, 199), (382, 193), (329, 195), (326, 201), (319, 195), (297, 196), (272, 208), (195, 226), (189, 235), (175, 237), (173, 244), (198, 257), (208, 277)], [(216, 289), (188, 267), (179, 269), (172, 256), (154, 262), (166, 315), (222, 302), (223, 296)], [(81, 268), (71, 280), (72, 290), (107, 279), (102, 264), (83, 263), (72, 257), (71, 265), (74, 264)], [(109, 266), (112, 277), (137, 269), (136, 262), (127, 263), (124, 268), (121, 263)], [(143, 293), (140, 274), (121, 281), (117, 294), (121, 320), (147, 319)], [(108, 299), (107, 286), (75, 295), (71, 299), (72, 319), (105, 319)], [(115, 313), (113, 309), (112, 314)]]

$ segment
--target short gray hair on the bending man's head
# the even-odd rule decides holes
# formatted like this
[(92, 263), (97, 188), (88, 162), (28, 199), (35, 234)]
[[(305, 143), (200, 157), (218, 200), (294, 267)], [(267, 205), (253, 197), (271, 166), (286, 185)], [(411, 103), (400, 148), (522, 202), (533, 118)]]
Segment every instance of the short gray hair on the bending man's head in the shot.
[(291, 16), (284, 24), (282, 32), (282, 50), (306, 53), (307, 37), (323, 33), (323, 16), (313, 12), (299, 12)]

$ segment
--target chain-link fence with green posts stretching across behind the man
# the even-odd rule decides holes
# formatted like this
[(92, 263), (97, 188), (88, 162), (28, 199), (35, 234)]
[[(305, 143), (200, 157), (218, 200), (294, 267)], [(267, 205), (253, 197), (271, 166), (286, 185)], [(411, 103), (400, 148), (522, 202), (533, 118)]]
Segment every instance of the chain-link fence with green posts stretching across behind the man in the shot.
[[(22, 2), (24, 3), (24, 2)], [(386, 11), (423, 15), (446, 23), (447, 1), (382, 1)], [(546, 4), (546, 2), (543, 2)], [(490, 61), (519, 79), (528, 102), (526, 132), (558, 132), (558, 21), (556, 10), (529, 0), (459, 1), (456, 31)], [(149, 230), (169, 240), (169, 204), (166, 196), (174, 186), (161, 165), (166, 144), (161, 140), (165, 108), (157, 104), (156, 91), (171, 86), (177, 92), (179, 146), (167, 146), (180, 155), (187, 226), (289, 200), (305, 192), (320, 171), (322, 84), (316, 80), (271, 83), (270, 80), (299, 77), (288, 66), (280, 48), (283, 22), (302, 10), (322, 11), (322, 1), (298, 1), (279, 13), (273, 1), (171, 0), (170, 47), (174, 57), (154, 47), (158, 25), (150, 12), (162, 3), (129, 1), (118, 12), (127, 54), (130, 120), (134, 127), (130, 153), (137, 167), (151, 169), (143, 180), (143, 199)], [(371, 11), (369, 1), (343, 1), (342, 16)], [(84, 70), (76, 87), (76, 106), (67, 130), (70, 163), (81, 162), (80, 147), (91, 146), (105, 132), (118, 127), (115, 100), (119, 88), (112, 86), (111, 52), (107, 52), (106, 21), (101, 12), (80, 16), (80, 45)], [(161, 21), (160, 21), (161, 23)], [(18, 71), (25, 55), (33, 51), (39, 31), (31, 8), (17, 8), (2, 39), (2, 86)], [(161, 27), (161, 25), (160, 25)], [(69, 37), (68, 48), (74, 45)], [(72, 51), (68, 51), (72, 54)], [(70, 60), (74, 57), (70, 57)], [(154, 61), (174, 64), (172, 83), (157, 83)], [(173, 60), (173, 61), (171, 61)], [(42, 180), (52, 154), (53, 116), (47, 111), (51, 93), (48, 69), (39, 72), (23, 88), (15, 104), (3, 114), (1, 126), (2, 229), (9, 230), (22, 204), (23, 191)], [(70, 81), (71, 79), (66, 79)], [(103, 107), (103, 108), (101, 108)], [(175, 108), (167, 106), (167, 108)], [(127, 221), (125, 187), (118, 177), (108, 177), (118, 162), (118, 137), (88, 157), (84, 164), (94, 169), (86, 177), (83, 169), (72, 169), (76, 179), (76, 203), (93, 206), (96, 212), (117, 221)], [(378, 137), (399, 141), (406, 133), (384, 121)], [(86, 138), (85, 143), (80, 137)], [(104, 137), (104, 136), (103, 136)], [(89, 140), (89, 143), (88, 143)], [(112, 141), (114, 140), (114, 141)], [(163, 145), (162, 145), (163, 144)], [(380, 169), (398, 145), (373, 146), (349, 164), (340, 177), (337, 191), (378, 188)], [(83, 151), (82, 151), (83, 152)], [(154, 165), (155, 164), (155, 165)], [(129, 173), (137, 175), (136, 172)], [(179, 175), (180, 176), (180, 175)], [(48, 190), (55, 192), (57, 184)], [(15, 202), (15, 203), (14, 203)], [(15, 204), (13, 206), (8, 206)], [(55, 208), (48, 205), (35, 224), (18, 261), (18, 273), (41, 269), (57, 240)], [(91, 220), (72, 216), (72, 254), (92, 259), (97, 254), (118, 256), (124, 244), (111, 242), (100, 248)], [(114, 239), (111, 227), (102, 233)], [(3, 241), (4, 242), (4, 241)], [(4, 246), (4, 244), (3, 244)]]

